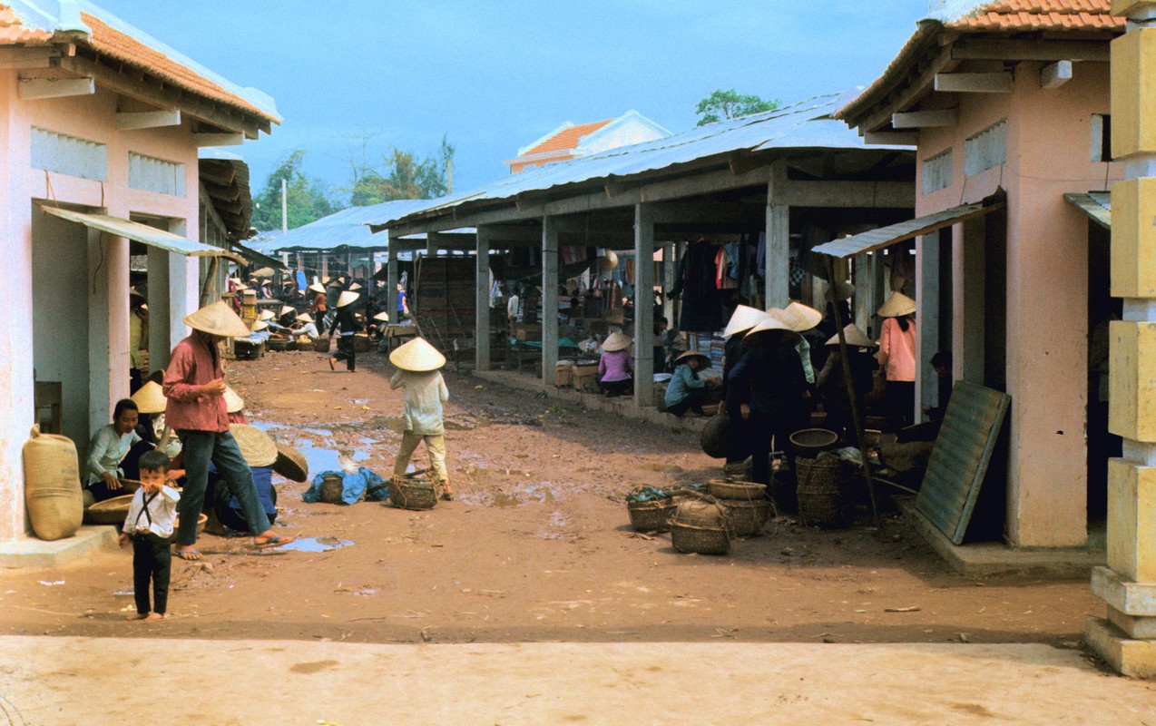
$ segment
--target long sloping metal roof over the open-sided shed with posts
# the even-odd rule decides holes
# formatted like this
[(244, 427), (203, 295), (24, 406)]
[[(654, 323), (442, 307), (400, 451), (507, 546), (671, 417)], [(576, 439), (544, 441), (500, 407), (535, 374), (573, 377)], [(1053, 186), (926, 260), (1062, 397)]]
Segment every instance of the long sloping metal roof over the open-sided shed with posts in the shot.
[[(410, 215), (416, 217), (436, 214), (467, 202), (507, 200), (519, 194), (557, 190), (599, 179), (621, 182), (635, 175), (661, 171), (735, 151), (866, 148), (864, 140), (855, 132), (832, 118), (835, 111), (858, 92), (855, 89), (847, 94), (817, 96), (775, 111), (698, 126), (666, 139), (531, 169), (468, 192), (427, 202), (421, 209), (391, 210), (390, 215), (381, 215), (375, 220), (373, 228), (381, 229)], [(873, 146), (872, 148), (910, 147)]]

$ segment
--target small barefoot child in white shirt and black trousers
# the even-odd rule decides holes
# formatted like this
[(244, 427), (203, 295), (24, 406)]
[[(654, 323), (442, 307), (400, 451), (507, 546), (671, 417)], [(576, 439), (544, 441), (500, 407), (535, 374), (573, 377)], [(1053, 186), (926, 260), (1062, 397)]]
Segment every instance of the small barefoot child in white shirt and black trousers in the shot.
[[(128, 620), (153, 622), (163, 620), (169, 607), (169, 570), (172, 551), (173, 520), (180, 495), (168, 486), (169, 457), (161, 451), (148, 451), (140, 458), (141, 487), (128, 505), (128, 516), (121, 528), (121, 547), (133, 543), (133, 591), (136, 614)], [(153, 581), (153, 603), (149, 605), (148, 586)]]

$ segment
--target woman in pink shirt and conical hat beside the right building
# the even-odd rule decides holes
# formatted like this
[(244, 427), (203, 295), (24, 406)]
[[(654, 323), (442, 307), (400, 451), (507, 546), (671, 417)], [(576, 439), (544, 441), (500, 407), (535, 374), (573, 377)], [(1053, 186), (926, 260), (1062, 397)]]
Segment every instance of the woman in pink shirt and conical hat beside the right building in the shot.
[(890, 424), (902, 429), (912, 423), (916, 408), (916, 301), (891, 292), (879, 314), (879, 368), (887, 378), (884, 401)]

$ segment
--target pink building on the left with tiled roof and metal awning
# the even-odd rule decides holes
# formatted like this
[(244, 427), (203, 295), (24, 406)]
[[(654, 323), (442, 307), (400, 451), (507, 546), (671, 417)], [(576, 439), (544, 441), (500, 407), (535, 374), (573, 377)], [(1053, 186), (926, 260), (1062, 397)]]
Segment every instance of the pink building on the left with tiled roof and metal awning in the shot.
[(0, 546), (20, 562), (29, 428), (82, 453), (127, 397), (134, 269), (147, 271), (150, 363), (164, 366), (222, 259), (246, 261), (223, 243), (247, 232), (247, 170), (199, 149), (281, 119), (268, 96), (67, 0), (0, 5)]

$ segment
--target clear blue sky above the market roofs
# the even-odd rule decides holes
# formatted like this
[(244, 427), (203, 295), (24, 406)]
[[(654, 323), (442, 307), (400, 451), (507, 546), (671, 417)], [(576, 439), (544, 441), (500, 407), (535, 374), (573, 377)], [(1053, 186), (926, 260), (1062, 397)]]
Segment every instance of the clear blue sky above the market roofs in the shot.
[(927, 0), (96, 0), (239, 86), (284, 123), (230, 150), (262, 185), (306, 150), (306, 172), (349, 183), (351, 158), (457, 146), (454, 188), (563, 121), (636, 109), (673, 132), (734, 88), (783, 102), (870, 83)]

